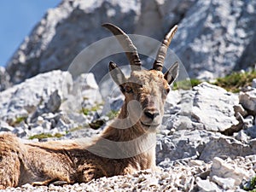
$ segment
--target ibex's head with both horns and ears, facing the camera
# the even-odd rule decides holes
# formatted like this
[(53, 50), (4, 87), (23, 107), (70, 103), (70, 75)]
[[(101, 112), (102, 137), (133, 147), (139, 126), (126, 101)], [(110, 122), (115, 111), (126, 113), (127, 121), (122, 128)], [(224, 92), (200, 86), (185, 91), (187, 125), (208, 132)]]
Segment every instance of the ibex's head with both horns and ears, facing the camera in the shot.
[(113, 62), (109, 63), (109, 71), (113, 81), (125, 95), (125, 112), (119, 118), (128, 118), (133, 125), (142, 127), (144, 131), (155, 131), (162, 121), (166, 96), (170, 91), (170, 84), (177, 78), (178, 62), (172, 65), (167, 72), (162, 73), (166, 52), (172, 38), (177, 31), (174, 26), (164, 38), (158, 55), (150, 70), (143, 70), (137, 53), (137, 48), (131, 39), (118, 26), (103, 24), (119, 40), (131, 64), (131, 76), (126, 78), (124, 73)]

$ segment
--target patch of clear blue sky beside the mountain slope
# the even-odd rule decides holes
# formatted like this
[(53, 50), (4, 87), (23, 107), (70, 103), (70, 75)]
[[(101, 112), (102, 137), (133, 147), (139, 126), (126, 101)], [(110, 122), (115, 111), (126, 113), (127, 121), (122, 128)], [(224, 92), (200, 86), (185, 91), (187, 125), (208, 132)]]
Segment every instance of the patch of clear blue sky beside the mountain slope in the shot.
[(23, 39), (61, 0), (1, 0), (0, 1), (0, 66), (5, 66)]

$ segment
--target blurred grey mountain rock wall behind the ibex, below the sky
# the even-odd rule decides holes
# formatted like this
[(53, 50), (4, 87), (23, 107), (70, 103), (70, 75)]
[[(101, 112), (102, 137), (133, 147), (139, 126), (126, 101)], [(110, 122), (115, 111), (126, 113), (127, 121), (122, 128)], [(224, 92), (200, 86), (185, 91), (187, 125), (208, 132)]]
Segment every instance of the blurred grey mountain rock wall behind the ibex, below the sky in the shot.
[[(104, 22), (157, 40), (177, 23), (179, 29), (171, 49), (183, 61), (190, 77), (212, 79), (256, 61), (255, 9), (255, 1), (242, 0), (64, 0), (57, 8), (49, 9), (25, 38), (7, 71), (11, 82), (19, 83), (38, 73), (67, 70), (82, 49), (109, 36), (101, 27)], [(148, 46), (136, 43), (139, 47)], [(104, 49), (102, 52), (109, 48)], [(156, 49), (150, 48), (148, 55), (154, 55)], [(124, 55), (113, 58), (119, 63), (127, 62)], [(108, 61), (93, 69), (98, 74), (97, 81), (98, 76), (107, 73)]]

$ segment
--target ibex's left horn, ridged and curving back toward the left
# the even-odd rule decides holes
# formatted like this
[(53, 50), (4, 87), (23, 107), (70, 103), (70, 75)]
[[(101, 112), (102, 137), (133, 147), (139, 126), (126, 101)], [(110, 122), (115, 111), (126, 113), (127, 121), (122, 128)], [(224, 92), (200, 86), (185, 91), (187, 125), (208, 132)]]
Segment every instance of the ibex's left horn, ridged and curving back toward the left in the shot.
[(141, 70), (142, 62), (137, 54), (137, 48), (131, 42), (131, 38), (118, 26), (114, 26), (111, 23), (105, 23), (102, 26), (106, 27), (118, 39), (119, 44), (121, 44), (125, 50), (125, 54), (131, 65), (131, 70)]

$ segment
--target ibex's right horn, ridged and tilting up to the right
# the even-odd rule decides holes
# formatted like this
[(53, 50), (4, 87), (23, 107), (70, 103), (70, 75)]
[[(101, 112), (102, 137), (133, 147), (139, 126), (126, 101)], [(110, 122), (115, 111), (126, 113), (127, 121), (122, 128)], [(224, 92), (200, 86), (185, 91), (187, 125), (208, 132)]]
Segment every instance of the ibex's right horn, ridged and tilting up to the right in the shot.
[(166, 58), (167, 49), (168, 49), (169, 45), (171, 44), (171, 41), (172, 41), (172, 38), (173, 38), (175, 32), (177, 32), (177, 25), (172, 27), (171, 31), (167, 33), (166, 38), (163, 40), (163, 42), (158, 50), (156, 59), (154, 61), (154, 65), (153, 65), (154, 70), (162, 71), (164, 61)]

